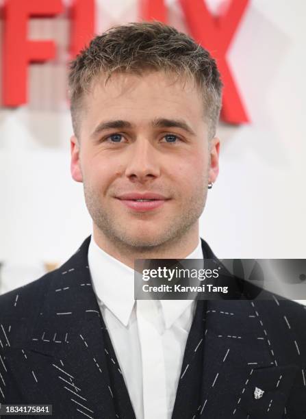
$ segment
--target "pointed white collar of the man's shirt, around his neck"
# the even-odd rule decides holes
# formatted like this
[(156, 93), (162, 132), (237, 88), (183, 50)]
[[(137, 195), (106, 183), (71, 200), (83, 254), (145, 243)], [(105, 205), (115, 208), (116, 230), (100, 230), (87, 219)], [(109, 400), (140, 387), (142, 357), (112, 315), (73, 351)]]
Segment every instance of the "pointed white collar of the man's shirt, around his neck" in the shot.
[[(203, 259), (201, 239), (186, 259)], [(92, 288), (97, 298), (127, 326), (134, 300), (134, 271), (103, 251), (91, 237), (88, 266)], [(161, 300), (165, 326), (168, 329), (183, 314), (193, 300)]]

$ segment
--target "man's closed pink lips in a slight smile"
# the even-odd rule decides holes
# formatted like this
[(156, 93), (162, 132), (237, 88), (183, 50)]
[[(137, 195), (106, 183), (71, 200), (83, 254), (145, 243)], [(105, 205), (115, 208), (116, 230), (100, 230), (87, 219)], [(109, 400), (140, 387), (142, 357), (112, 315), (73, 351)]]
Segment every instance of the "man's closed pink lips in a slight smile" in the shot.
[(129, 192), (116, 196), (123, 205), (136, 212), (146, 212), (162, 207), (169, 198), (153, 192)]

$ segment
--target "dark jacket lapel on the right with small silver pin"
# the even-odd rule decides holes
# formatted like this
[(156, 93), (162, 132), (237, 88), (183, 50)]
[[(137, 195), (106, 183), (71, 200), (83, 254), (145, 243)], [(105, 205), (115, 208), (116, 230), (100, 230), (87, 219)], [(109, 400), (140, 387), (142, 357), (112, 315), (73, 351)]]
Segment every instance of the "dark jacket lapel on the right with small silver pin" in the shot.
[[(277, 366), (250, 301), (208, 301), (202, 415), (281, 418), (298, 368)], [(255, 388), (264, 390), (255, 398)]]

